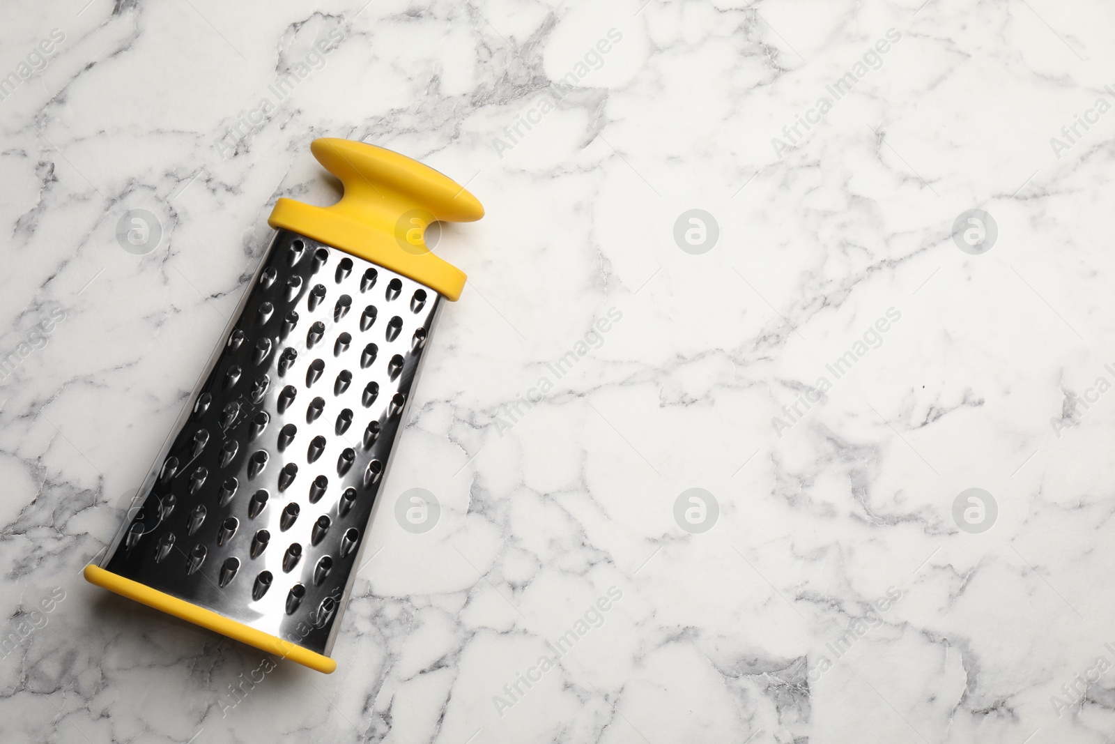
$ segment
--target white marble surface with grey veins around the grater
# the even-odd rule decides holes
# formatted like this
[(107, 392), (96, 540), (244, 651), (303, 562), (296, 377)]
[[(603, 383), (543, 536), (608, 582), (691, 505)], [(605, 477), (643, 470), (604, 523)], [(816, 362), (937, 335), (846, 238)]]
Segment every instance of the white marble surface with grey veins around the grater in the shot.
[[(4, 9), (0, 741), (1115, 734), (1115, 7), (314, 4)], [(80, 577), (319, 136), (487, 210), (331, 676)]]

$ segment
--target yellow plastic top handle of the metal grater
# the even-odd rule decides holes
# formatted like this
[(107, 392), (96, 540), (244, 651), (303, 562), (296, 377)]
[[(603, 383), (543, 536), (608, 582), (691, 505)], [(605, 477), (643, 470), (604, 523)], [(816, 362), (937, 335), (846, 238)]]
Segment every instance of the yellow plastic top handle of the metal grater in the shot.
[(405, 155), (350, 139), (314, 139), (310, 152), (345, 186), (331, 206), (280, 199), (268, 224), (348, 251), (426, 284), (448, 300), (460, 297), (465, 273), (426, 247), (432, 222), (484, 216), (464, 186)]

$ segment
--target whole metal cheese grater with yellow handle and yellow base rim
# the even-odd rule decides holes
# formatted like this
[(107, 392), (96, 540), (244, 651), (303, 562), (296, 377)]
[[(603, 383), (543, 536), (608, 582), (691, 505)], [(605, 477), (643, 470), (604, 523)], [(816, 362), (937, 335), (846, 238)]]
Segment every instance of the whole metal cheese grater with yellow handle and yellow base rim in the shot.
[(388, 149), (310, 148), (341, 200), (275, 203), (203, 381), (85, 577), (328, 674), (424, 351), (465, 283), (424, 231), (484, 209)]

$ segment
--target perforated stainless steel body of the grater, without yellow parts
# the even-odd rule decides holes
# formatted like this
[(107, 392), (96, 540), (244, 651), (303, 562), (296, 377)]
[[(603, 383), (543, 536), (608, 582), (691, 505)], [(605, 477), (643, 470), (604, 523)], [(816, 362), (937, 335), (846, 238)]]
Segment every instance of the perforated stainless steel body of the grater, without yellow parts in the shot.
[(442, 302), (279, 230), (101, 567), (328, 656)]

